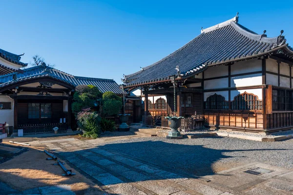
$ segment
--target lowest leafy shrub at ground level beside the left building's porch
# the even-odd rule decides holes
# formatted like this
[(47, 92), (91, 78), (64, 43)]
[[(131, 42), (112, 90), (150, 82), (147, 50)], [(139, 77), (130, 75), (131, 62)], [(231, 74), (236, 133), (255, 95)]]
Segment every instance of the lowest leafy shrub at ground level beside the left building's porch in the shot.
[(97, 138), (100, 136), (101, 117), (95, 112), (80, 112), (77, 116), (78, 129), (84, 137)]

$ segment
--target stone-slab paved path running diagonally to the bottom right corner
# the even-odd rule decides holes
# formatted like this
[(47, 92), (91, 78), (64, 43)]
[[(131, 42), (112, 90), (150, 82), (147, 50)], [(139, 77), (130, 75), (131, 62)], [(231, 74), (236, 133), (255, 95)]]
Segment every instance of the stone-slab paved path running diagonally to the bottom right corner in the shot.
[[(293, 171), (252, 163), (196, 177), (169, 170), (133, 156), (96, 147), (99, 139), (50, 139), (30, 142), (56, 151), (61, 160), (90, 177), (108, 194), (115, 195), (291, 195)], [(260, 175), (244, 173), (247, 170)]]

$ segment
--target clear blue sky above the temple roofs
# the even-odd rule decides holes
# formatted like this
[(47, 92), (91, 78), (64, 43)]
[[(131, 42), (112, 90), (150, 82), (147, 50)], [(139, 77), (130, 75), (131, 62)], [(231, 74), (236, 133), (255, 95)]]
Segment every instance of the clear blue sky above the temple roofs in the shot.
[(74, 76), (113, 78), (172, 53), (239, 12), (239, 23), (268, 37), (284, 30), (293, 46), (293, 0), (0, 0), (0, 48), (35, 54)]

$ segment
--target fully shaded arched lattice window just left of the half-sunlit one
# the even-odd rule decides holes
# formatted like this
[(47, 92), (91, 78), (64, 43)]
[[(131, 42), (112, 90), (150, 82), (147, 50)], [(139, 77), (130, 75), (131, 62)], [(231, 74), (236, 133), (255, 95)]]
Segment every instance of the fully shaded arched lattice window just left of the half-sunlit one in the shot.
[(225, 100), (225, 97), (221, 95), (214, 94), (207, 98), (205, 101), (205, 108), (212, 110), (228, 110), (229, 109), (229, 101)]

